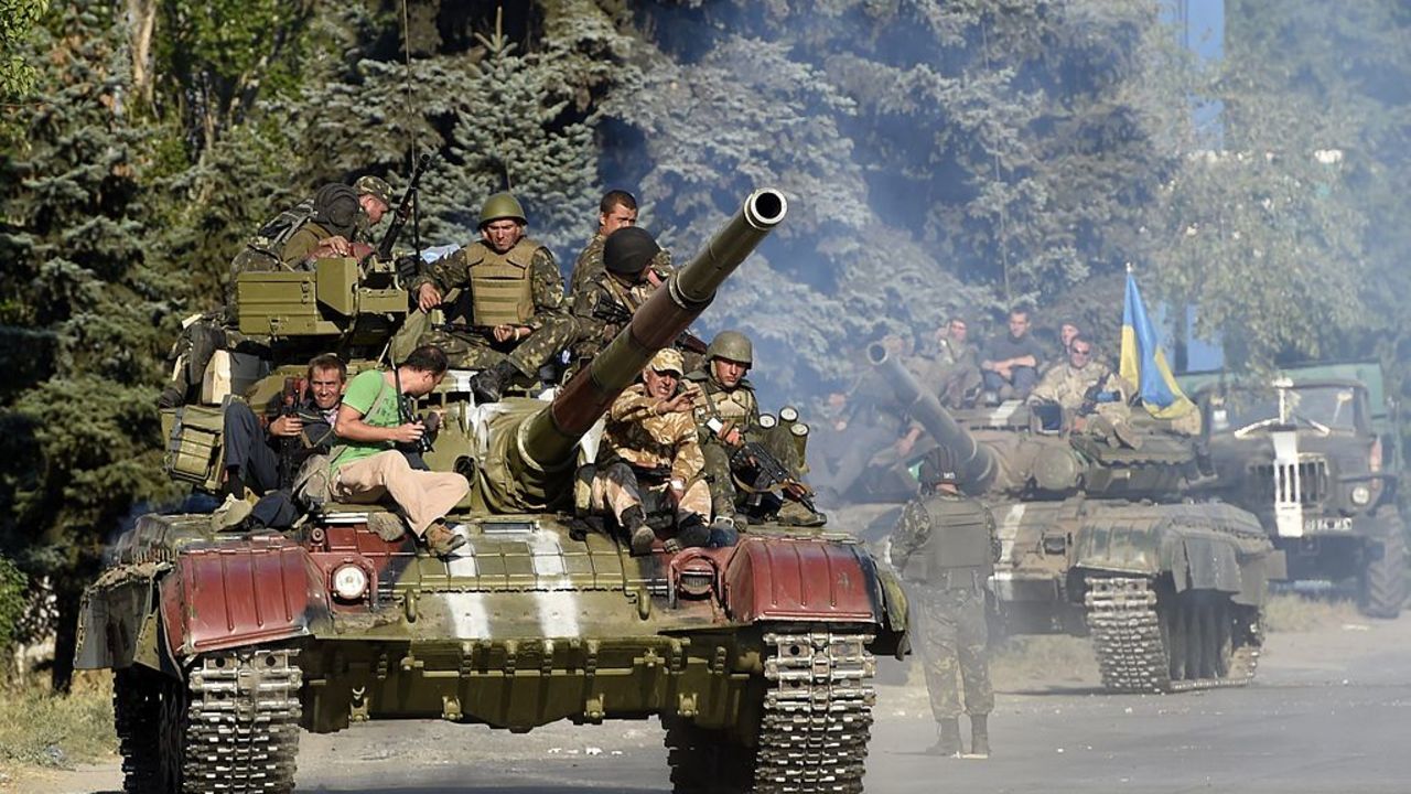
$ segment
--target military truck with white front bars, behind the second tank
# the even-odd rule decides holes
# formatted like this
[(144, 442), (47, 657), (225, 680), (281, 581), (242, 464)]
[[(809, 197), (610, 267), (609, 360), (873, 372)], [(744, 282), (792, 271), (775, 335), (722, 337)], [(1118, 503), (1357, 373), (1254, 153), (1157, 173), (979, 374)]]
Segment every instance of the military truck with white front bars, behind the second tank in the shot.
[(1397, 617), (1407, 596), (1405, 527), (1397, 407), (1381, 367), (1182, 380), (1204, 415), (1211, 493), (1259, 516), (1291, 579), (1352, 582), (1367, 616)]

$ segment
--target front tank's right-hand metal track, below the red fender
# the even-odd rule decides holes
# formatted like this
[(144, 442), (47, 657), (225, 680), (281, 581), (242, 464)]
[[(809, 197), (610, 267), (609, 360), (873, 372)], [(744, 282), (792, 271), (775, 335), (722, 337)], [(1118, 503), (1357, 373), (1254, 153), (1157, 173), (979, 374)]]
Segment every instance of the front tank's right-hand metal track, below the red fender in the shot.
[(807, 627), (765, 634), (773, 653), (765, 661), (753, 791), (862, 791), (876, 704), (872, 639)]

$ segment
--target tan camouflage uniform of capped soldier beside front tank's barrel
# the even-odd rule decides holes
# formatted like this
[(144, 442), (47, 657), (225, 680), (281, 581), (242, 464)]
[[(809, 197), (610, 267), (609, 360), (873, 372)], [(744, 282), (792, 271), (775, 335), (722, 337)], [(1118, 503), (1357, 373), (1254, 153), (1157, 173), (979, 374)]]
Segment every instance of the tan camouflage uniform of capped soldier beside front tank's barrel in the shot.
[[(646, 386), (629, 386), (608, 408), (598, 449), (598, 473), (593, 480), (591, 504), (621, 517), (634, 506), (648, 514), (674, 514), (676, 523), (690, 516), (710, 520), (710, 490), (701, 478), (706, 461), (696, 438), (696, 422), (687, 413), (658, 414), (660, 404)], [(686, 483), (680, 504), (667, 496), (670, 480)]]

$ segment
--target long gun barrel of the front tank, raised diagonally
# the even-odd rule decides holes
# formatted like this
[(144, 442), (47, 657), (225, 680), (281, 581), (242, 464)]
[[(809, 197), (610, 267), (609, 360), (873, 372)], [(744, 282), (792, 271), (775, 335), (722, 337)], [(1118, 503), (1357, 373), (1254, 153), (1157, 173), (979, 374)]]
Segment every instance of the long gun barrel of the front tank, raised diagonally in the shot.
[(632, 384), (658, 350), (672, 342), (710, 305), (715, 290), (745, 261), (755, 246), (785, 219), (789, 203), (775, 189), (759, 189), (684, 267), (634, 315), (593, 362), (521, 428), (519, 452), (533, 468), (562, 465), (580, 438), (624, 389)]

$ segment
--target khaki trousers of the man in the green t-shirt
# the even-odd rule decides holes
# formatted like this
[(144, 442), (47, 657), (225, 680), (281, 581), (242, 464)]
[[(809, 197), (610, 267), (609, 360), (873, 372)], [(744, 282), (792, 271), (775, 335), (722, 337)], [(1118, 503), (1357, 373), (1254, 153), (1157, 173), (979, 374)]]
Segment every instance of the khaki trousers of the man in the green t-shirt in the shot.
[(426, 527), (470, 493), (470, 483), (454, 472), (422, 472), (406, 463), (395, 449), (354, 461), (339, 469), (333, 497), (353, 504), (371, 504), (391, 496), (406, 514), (418, 537)]

